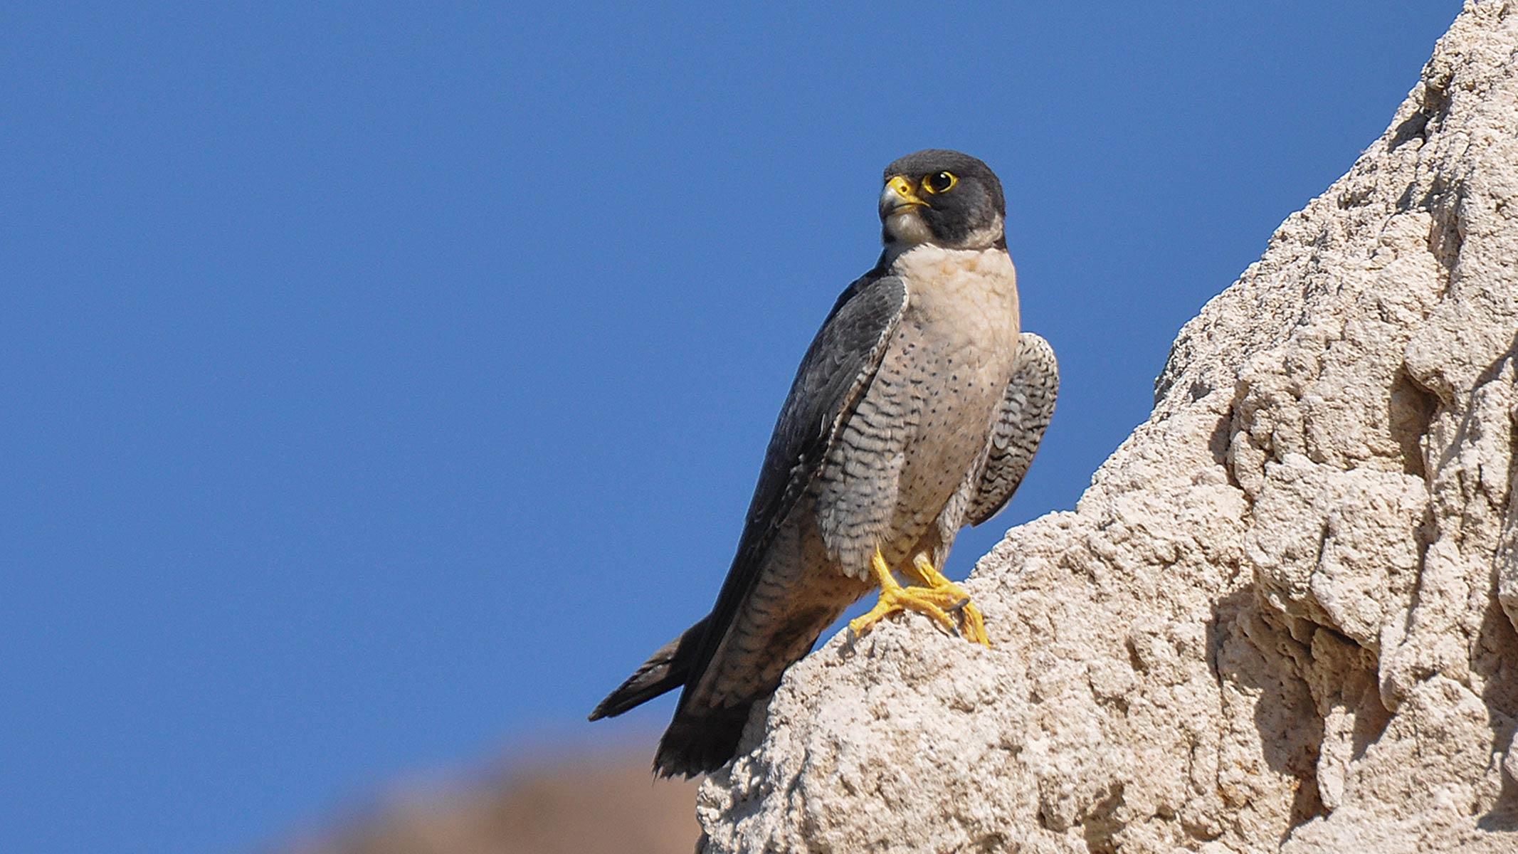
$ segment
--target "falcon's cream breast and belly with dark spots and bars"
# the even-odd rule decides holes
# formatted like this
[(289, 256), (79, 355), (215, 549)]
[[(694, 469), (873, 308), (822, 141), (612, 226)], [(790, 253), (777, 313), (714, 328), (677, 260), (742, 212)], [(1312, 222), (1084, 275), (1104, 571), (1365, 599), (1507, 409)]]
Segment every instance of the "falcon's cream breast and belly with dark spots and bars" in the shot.
[(908, 306), (874, 379), (814, 482), (817, 528), (833, 569), (891, 566), (979, 466), (1017, 358), (1017, 276), (1005, 250), (903, 253), (891, 275)]

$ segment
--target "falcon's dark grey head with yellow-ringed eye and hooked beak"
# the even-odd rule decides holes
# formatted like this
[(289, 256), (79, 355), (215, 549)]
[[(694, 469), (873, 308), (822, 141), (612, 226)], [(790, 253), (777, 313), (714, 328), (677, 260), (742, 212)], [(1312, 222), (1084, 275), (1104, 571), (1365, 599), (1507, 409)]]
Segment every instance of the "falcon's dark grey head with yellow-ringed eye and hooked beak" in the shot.
[(1005, 247), (1005, 220), (1002, 182), (970, 155), (927, 149), (885, 167), (880, 238), (887, 247)]

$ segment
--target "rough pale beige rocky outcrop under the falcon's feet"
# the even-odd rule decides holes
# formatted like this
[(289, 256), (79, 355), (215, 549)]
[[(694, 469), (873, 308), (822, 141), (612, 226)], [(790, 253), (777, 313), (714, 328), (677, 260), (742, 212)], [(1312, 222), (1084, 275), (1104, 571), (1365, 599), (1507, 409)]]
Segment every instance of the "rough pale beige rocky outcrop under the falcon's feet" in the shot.
[(976, 567), (993, 649), (897, 619), (792, 667), (706, 851), (1518, 851), (1515, 50), (1468, 3), (1181, 331)]

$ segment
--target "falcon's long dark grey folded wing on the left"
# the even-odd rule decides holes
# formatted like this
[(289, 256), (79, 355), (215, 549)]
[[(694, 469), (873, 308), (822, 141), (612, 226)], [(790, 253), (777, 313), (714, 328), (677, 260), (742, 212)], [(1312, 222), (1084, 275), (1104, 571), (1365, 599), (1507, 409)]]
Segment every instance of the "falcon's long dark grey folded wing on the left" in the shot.
[(707, 617), (686, 692), (700, 681), (753, 589), (776, 528), (811, 485), (839, 426), (880, 367), (905, 308), (906, 285), (900, 279), (867, 275), (838, 297), (802, 358), (770, 437), (738, 554)]

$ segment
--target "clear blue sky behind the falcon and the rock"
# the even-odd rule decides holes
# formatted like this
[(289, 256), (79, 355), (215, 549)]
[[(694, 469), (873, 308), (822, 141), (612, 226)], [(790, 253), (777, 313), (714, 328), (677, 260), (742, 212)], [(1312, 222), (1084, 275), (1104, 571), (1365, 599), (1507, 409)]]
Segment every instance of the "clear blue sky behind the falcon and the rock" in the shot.
[(0, 849), (243, 851), (595, 737), (929, 146), (1002, 174), (1064, 379), (962, 575), (1457, 6), (6, 6)]

